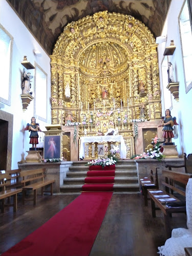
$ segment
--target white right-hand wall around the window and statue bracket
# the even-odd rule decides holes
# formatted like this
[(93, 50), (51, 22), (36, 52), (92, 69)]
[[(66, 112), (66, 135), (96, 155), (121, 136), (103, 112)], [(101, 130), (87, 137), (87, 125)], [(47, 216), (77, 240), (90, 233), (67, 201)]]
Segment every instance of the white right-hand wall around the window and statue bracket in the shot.
[[(172, 0), (170, 4), (169, 12), (166, 18), (163, 35), (167, 35), (166, 43), (158, 45), (158, 59), (159, 59), (159, 76), (160, 76), (160, 87), (161, 87), (161, 100), (162, 100), (162, 115), (164, 116), (164, 100), (162, 93), (162, 75), (161, 75), (161, 62), (163, 59), (163, 53), (165, 47), (170, 45), (170, 40), (174, 40), (176, 50), (172, 56), (168, 56), (169, 61), (172, 62), (174, 67), (175, 80), (179, 82), (179, 102), (177, 102), (172, 96), (173, 109), (171, 111), (172, 116), (176, 116), (178, 128), (178, 139), (173, 140), (177, 145), (177, 151), (179, 155), (184, 152), (188, 155), (192, 153), (192, 90), (187, 94), (185, 93), (185, 80), (183, 72), (183, 61), (182, 61), (182, 50), (181, 50), (181, 39), (179, 30), (179, 14), (182, 8), (184, 0)], [(192, 61), (192, 60), (191, 60)], [(192, 72), (191, 72), (192, 76)], [(167, 83), (168, 84), (168, 83)]]

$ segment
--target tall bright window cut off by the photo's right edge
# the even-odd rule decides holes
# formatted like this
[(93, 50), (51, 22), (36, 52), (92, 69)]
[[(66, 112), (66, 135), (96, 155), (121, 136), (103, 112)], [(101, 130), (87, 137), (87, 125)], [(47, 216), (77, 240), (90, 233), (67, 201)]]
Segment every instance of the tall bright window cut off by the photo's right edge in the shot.
[(192, 59), (192, 34), (190, 27), (189, 8), (185, 1), (182, 11), (179, 16), (181, 45), (183, 54), (183, 65), (185, 73), (185, 91), (186, 93), (192, 88), (191, 75), (191, 59)]

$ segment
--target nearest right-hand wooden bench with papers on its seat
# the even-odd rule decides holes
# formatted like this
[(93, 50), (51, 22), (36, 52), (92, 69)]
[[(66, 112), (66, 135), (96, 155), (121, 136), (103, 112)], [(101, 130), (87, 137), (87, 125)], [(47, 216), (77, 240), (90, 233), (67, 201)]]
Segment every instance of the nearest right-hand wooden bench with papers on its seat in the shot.
[[(148, 189), (147, 192), (151, 198), (153, 218), (156, 217), (156, 210), (161, 210), (164, 214), (165, 234), (166, 234), (166, 239), (168, 239), (171, 236), (170, 217), (172, 217), (173, 213), (186, 212), (185, 207), (167, 207), (166, 206), (167, 202), (181, 202), (181, 200), (178, 197), (170, 193), (170, 189), (172, 189), (172, 191), (176, 193), (179, 193), (179, 195), (182, 195), (185, 197), (185, 190), (182, 190), (179, 187), (175, 186), (176, 184), (175, 181), (179, 181), (186, 187), (188, 179), (191, 178), (192, 175), (186, 174), (186, 173), (172, 172), (170, 170), (162, 170), (162, 176), (165, 177), (165, 182), (162, 182), (162, 184), (165, 185), (165, 190)], [(158, 192), (158, 191), (162, 191), (162, 192)], [(174, 201), (169, 201), (169, 200), (174, 200)]]

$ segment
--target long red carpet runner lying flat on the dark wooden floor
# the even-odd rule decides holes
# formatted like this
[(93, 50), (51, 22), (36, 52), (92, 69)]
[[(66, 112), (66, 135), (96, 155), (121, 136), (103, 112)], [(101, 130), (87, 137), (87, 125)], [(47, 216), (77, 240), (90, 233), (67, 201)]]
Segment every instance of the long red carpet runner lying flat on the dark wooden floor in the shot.
[(88, 256), (112, 195), (82, 193), (2, 256)]

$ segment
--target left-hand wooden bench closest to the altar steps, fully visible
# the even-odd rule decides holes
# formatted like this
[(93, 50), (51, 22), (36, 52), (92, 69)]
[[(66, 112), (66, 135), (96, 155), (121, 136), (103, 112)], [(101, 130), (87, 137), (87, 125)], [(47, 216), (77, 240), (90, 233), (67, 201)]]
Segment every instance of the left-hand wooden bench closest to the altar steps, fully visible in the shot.
[[(50, 192), (51, 196), (53, 195), (53, 183), (55, 180), (44, 180), (45, 168), (22, 171), (20, 173), (20, 177), (22, 178), (21, 183), (23, 184), (23, 204), (25, 204), (25, 200), (33, 200), (33, 204), (36, 205), (38, 188), (41, 188), (41, 196), (44, 195), (44, 192)], [(50, 185), (50, 190), (44, 190), (47, 185)], [(26, 199), (27, 190), (33, 191), (32, 199)]]

